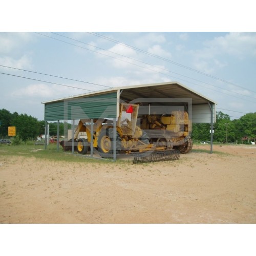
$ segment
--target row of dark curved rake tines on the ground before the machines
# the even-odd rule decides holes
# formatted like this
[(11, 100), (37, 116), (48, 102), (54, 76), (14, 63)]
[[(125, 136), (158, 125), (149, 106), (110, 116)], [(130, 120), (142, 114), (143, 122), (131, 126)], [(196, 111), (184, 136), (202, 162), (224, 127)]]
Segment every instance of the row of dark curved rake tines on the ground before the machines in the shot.
[(147, 152), (133, 152), (133, 164), (138, 163), (153, 163), (161, 161), (173, 161), (180, 158), (179, 150), (163, 150), (163, 151), (147, 151)]

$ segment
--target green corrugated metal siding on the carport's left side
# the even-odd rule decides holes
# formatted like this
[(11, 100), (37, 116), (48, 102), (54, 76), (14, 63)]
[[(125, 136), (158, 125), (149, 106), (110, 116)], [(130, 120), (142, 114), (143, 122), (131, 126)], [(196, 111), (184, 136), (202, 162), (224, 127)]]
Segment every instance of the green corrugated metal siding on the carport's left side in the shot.
[(116, 117), (117, 93), (45, 103), (45, 121)]

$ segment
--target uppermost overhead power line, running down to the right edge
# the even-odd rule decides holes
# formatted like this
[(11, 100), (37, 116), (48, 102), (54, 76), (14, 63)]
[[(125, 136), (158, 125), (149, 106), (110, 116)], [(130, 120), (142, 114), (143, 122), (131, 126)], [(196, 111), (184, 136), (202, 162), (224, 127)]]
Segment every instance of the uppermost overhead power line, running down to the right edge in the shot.
[(222, 82), (231, 84), (232, 86), (236, 86), (236, 87), (242, 88), (242, 89), (244, 89), (244, 90), (247, 90), (247, 91), (256, 93), (255, 91), (252, 91), (252, 90), (249, 90), (249, 89), (247, 89), (247, 88), (245, 88), (245, 87), (242, 87), (242, 86), (240, 86), (239, 84), (232, 83), (232, 82), (226, 81), (226, 80), (224, 80), (224, 79), (222, 79), (222, 78), (219, 78), (219, 77), (216, 77), (216, 76), (212, 76), (212, 75), (206, 74), (206, 73), (204, 73), (204, 72), (202, 72), (202, 71), (199, 71), (199, 70), (196, 70), (196, 69), (187, 67), (187, 66), (185, 66), (185, 65), (182, 65), (181, 63), (172, 61), (172, 60), (170, 60), (170, 59), (163, 58), (163, 57), (161, 57), (161, 56), (159, 56), (159, 55), (156, 55), (156, 54), (149, 53), (149, 52), (144, 51), (144, 50), (142, 50), (142, 49), (139, 49), (139, 48), (137, 48), (137, 47), (134, 47), (134, 46), (131, 46), (131, 45), (127, 45), (127, 44), (125, 44), (125, 43), (123, 43), (123, 42), (120, 42), (120, 41), (118, 41), (118, 40), (115, 40), (115, 39), (113, 39), (113, 38), (109, 38), (109, 37), (107, 37), (107, 36), (100, 35), (100, 34), (95, 33), (95, 32), (87, 32), (87, 33), (92, 34), (92, 35), (95, 35), (95, 36), (98, 36), (98, 37), (101, 37), (101, 38), (103, 38), (103, 39), (105, 39), (105, 40), (109, 40), (109, 41), (115, 42), (116, 44), (119, 44), (119, 45), (122, 45), (122, 46), (125, 46), (125, 47), (128, 47), (128, 48), (134, 49), (134, 50), (136, 50), (136, 51), (139, 51), (139, 52), (142, 52), (142, 53), (144, 53), (144, 54), (153, 56), (153, 57), (155, 57), (155, 58), (158, 58), (158, 59), (161, 59), (161, 60), (164, 60), (164, 61), (173, 63), (174, 65), (177, 65), (177, 66), (179, 66), (179, 67), (182, 67), (182, 68), (185, 68), (185, 69), (188, 69), (188, 70), (197, 72), (197, 73), (199, 73), (199, 74), (201, 74), (201, 75), (208, 76), (208, 77), (210, 77), (210, 78), (214, 78), (214, 79), (217, 79), (217, 80), (219, 80), (219, 81), (222, 81)]

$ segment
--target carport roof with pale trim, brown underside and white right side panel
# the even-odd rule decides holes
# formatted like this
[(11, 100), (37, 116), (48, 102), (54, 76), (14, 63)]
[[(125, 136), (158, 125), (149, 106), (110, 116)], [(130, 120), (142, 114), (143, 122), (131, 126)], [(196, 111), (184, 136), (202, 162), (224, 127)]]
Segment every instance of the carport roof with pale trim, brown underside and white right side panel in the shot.
[[(214, 120), (215, 120), (215, 104), (216, 104), (215, 101), (175, 81), (140, 84), (137, 86), (115, 87), (115, 88), (106, 89), (102, 91), (90, 92), (86, 94), (79, 94), (79, 95), (74, 95), (70, 97), (45, 101), (42, 103), (49, 104), (53, 102), (66, 101), (66, 100), (72, 100), (72, 99), (83, 99), (83, 98), (86, 99), (88, 97), (102, 95), (102, 94), (111, 94), (113, 92), (116, 92), (117, 101), (124, 100), (126, 102), (135, 101), (136, 99), (140, 99), (140, 98), (148, 98), (148, 100), (150, 100), (150, 98), (188, 99), (192, 105), (192, 108), (191, 108), (193, 111), (192, 120), (193, 122), (196, 122), (196, 123), (200, 123), (200, 122), (210, 123), (210, 114), (211, 114), (210, 105), (212, 105), (214, 108), (213, 113), (214, 113)], [(166, 103), (166, 104), (171, 104), (171, 103)], [(117, 110), (117, 114), (118, 114), (118, 110)]]

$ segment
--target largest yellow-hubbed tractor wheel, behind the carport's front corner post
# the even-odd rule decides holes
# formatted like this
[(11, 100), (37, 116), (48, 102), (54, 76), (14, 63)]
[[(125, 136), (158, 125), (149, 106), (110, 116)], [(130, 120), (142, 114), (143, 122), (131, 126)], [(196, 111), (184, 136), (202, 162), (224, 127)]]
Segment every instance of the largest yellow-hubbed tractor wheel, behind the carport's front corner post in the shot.
[[(113, 158), (114, 153), (114, 135), (113, 128), (103, 130), (98, 138), (98, 151), (102, 158)], [(121, 150), (121, 138), (119, 133), (116, 133), (116, 153)]]

